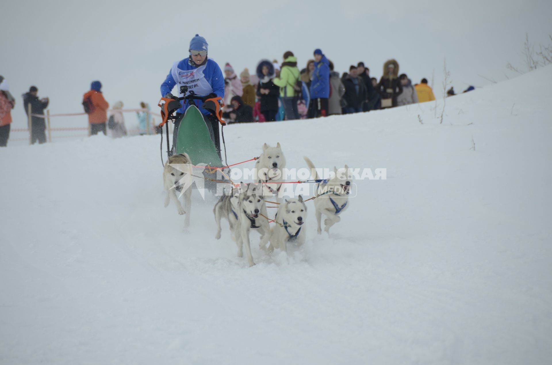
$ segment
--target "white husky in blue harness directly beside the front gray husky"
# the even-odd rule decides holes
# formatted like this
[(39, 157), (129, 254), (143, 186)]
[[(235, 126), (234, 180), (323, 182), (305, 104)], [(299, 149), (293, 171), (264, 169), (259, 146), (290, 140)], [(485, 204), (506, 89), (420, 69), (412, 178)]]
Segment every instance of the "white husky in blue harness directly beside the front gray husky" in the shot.
[(307, 207), (303, 202), (303, 197), (285, 199), (280, 203), (276, 213), (276, 226), (270, 233), (270, 245), (268, 251), (274, 251), (279, 248), (282, 251), (288, 250), (288, 242), (295, 241), (298, 245), (305, 243), (306, 232), (301, 229), (306, 221)]

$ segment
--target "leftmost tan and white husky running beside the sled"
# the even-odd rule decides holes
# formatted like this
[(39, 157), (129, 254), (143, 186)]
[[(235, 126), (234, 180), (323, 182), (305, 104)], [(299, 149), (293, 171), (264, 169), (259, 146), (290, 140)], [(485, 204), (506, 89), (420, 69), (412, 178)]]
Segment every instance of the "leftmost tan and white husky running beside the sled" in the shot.
[[(169, 201), (176, 204), (178, 214), (186, 214), (184, 226), (190, 225), (190, 210), (192, 208), (192, 162), (187, 153), (176, 154), (169, 157), (163, 169), (163, 186), (166, 192), (165, 207)], [(184, 189), (184, 191), (182, 191)], [(178, 200), (178, 196), (184, 195), (185, 210)]]

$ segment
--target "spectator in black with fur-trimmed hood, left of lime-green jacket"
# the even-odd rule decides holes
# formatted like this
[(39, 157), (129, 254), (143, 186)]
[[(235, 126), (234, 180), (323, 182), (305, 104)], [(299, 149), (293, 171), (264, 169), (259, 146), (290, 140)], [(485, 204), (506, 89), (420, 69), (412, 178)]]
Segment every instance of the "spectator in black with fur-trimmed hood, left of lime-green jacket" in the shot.
[(280, 94), (280, 88), (273, 82), (274, 65), (269, 60), (261, 60), (256, 71), (259, 78), (257, 96), (261, 101), (261, 113), (267, 122), (273, 122), (276, 120), (278, 95)]

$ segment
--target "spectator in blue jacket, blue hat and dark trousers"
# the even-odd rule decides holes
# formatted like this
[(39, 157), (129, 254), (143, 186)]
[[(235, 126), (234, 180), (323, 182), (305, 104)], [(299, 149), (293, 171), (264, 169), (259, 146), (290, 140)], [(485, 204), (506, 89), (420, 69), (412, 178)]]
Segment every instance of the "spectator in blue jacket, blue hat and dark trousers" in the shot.
[(314, 71), (310, 87), (310, 98), (314, 117), (328, 115), (330, 98), (330, 62), (320, 49), (314, 51)]

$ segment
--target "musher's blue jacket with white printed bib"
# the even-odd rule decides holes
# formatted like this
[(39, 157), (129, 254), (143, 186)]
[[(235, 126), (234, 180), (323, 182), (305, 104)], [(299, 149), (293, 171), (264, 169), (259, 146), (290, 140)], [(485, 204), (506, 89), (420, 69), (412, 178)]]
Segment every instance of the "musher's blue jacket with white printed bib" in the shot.
[[(161, 96), (167, 95), (176, 86), (178, 88), (178, 96), (184, 96), (180, 93), (180, 87), (188, 86), (188, 91), (193, 90), (196, 95), (204, 96), (215, 93), (217, 96), (224, 98), (224, 76), (219, 65), (211, 58), (207, 59), (201, 66), (194, 66), (190, 63), (189, 58), (184, 58), (182, 61), (173, 63), (171, 71), (167, 78), (161, 84)], [(190, 106), (187, 100), (181, 101), (182, 108), (177, 112), (183, 113)], [(209, 111), (201, 108), (201, 100), (195, 100), (195, 105), (198, 106), (201, 113), (207, 115)]]

